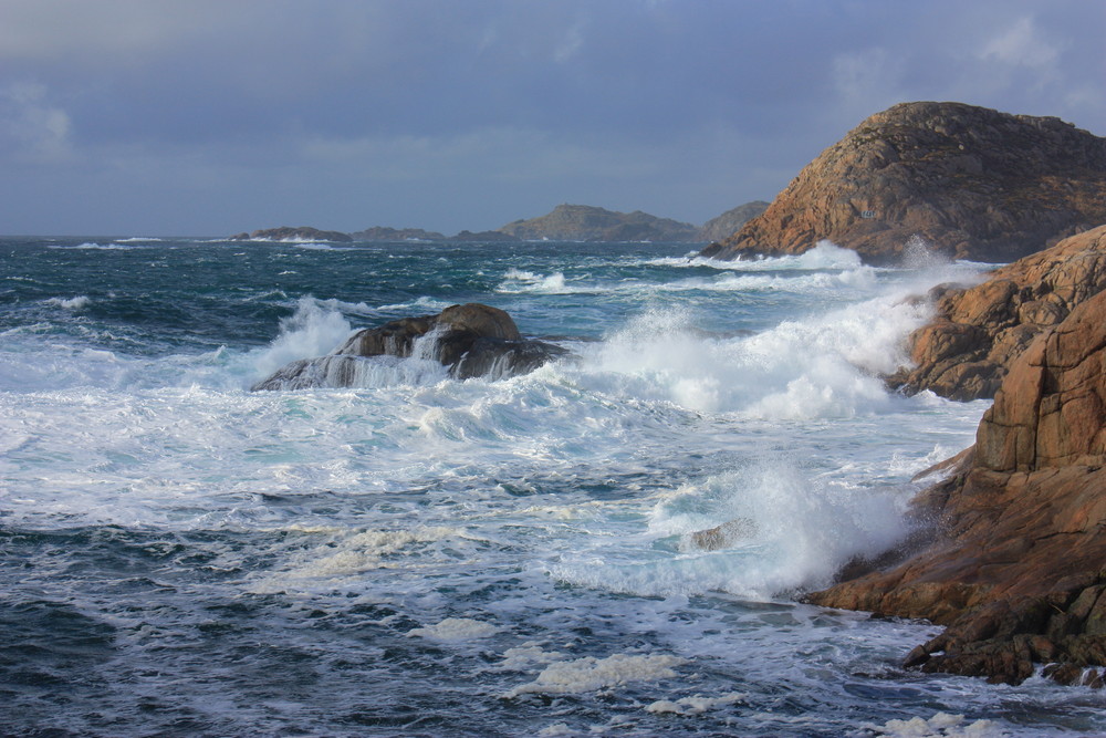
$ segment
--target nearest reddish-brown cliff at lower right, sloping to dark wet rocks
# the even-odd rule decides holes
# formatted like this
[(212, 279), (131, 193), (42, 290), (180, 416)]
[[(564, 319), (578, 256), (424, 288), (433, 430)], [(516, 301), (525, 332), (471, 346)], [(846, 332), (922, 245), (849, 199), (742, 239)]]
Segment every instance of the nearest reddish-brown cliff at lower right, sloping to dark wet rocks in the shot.
[(1106, 292), (1013, 362), (973, 453), (924, 492), (936, 524), (904, 563), (808, 595), (946, 631), (907, 665), (1016, 684), (1106, 672)]

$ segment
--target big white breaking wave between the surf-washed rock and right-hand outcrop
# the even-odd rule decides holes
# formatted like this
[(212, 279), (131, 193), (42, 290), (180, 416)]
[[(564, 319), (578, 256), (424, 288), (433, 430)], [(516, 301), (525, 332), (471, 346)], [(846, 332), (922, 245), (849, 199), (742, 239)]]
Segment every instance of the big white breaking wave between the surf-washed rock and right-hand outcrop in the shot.
[(738, 339), (705, 336), (706, 321), (666, 310), (643, 314), (584, 351), (595, 378), (681, 407), (748, 417), (802, 419), (879, 412), (878, 378), (906, 361), (902, 341), (925, 306), (880, 298)]

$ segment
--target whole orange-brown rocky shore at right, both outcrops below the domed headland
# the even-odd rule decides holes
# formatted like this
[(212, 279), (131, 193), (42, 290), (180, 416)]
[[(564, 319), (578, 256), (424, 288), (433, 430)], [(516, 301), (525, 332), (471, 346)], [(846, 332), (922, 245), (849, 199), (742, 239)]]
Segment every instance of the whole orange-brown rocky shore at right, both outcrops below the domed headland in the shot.
[[(907, 666), (1018, 684), (1044, 664), (1064, 684), (1106, 679), (1104, 241), (1096, 228), (937, 295), (916, 345), (949, 349), (932, 370), (951, 372), (949, 386), (998, 383), (994, 405), (975, 445), (915, 500), (915, 544), (807, 595), (946, 626)], [(957, 373), (957, 355), (977, 358)]]

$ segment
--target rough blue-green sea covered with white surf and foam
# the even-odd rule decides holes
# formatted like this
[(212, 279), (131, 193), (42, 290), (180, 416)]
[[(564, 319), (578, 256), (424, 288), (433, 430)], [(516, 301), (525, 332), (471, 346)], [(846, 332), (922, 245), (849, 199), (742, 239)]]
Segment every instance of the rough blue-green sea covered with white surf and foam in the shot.
[[(0, 734), (1106, 731), (1098, 693), (904, 671), (936, 628), (795, 601), (972, 443), (985, 403), (877, 376), (905, 298), (982, 269), (0, 239)], [(573, 357), (248, 391), (472, 301)]]

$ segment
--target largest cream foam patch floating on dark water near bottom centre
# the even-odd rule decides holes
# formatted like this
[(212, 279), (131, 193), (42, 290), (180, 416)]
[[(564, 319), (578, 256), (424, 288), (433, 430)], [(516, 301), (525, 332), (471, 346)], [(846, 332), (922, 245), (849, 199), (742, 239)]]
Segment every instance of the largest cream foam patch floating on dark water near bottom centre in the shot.
[(503, 697), (513, 699), (525, 694), (575, 695), (619, 687), (632, 682), (670, 679), (676, 676), (675, 667), (686, 663), (686, 658), (678, 656), (632, 654), (554, 662), (542, 669), (533, 682), (511, 689)]

